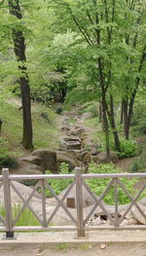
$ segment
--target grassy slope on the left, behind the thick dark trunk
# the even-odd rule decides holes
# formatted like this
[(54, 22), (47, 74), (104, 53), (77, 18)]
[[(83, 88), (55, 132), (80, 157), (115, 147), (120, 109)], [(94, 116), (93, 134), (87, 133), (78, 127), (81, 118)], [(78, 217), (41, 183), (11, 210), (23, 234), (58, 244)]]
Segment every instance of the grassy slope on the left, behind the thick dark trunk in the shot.
[[(23, 155), (27, 152), (21, 146), (22, 113), (18, 110), (19, 98), (0, 98), (0, 119), (3, 120), (0, 136), (0, 154)], [(47, 113), (48, 119), (41, 117)], [(57, 146), (58, 132), (55, 124), (56, 115), (52, 109), (41, 104), (32, 105), (33, 141), (34, 148), (52, 148)]]

